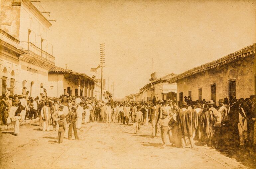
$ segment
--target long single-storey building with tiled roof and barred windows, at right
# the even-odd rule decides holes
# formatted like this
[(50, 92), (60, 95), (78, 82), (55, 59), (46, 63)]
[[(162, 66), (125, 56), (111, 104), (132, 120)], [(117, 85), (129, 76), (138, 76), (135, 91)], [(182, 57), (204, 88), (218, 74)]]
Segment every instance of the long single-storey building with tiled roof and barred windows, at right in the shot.
[(249, 98), (256, 88), (256, 43), (220, 59), (195, 67), (169, 80), (177, 83), (178, 100)]

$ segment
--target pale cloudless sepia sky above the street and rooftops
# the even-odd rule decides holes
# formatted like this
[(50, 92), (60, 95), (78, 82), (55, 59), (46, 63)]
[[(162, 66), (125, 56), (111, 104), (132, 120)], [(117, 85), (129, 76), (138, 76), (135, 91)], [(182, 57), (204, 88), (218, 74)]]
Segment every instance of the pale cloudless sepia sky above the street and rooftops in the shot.
[[(255, 1), (41, 0), (56, 66), (91, 75), (106, 44), (103, 76), (114, 96), (139, 92), (154, 72), (182, 73), (256, 42)], [(98, 69), (99, 70), (99, 69)], [(99, 76), (100, 77), (100, 76)]]

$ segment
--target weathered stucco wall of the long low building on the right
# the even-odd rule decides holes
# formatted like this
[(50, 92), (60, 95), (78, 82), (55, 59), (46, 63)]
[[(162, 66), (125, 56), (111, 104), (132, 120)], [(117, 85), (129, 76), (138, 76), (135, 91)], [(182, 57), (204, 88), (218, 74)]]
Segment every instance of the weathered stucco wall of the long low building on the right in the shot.
[(248, 98), (255, 92), (255, 54), (247, 56), (195, 75), (180, 79), (177, 98), (183, 92), (183, 97), (192, 90), (192, 100), (198, 100), (198, 88), (202, 88), (202, 99), (211, 98), (210, 85), (216, 83), (216, 100), (228, 98), (228, 80), (236, 79), (236, 97)]

